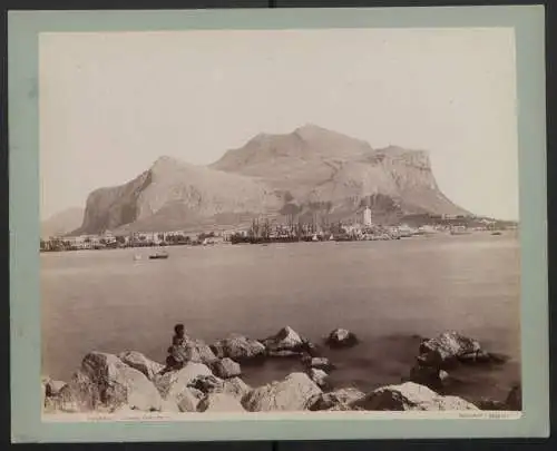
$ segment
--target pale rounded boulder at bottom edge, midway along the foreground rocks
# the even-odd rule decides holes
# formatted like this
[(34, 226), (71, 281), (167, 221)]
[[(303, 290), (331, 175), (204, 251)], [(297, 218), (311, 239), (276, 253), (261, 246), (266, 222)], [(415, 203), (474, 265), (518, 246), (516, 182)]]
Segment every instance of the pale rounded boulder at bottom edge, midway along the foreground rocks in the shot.
[(312, 396), (322, 393), (307, 374), (292, 373), (281, 382), (252, 390), (242, 404), (247, 411), (300, 411), (307, 408)]

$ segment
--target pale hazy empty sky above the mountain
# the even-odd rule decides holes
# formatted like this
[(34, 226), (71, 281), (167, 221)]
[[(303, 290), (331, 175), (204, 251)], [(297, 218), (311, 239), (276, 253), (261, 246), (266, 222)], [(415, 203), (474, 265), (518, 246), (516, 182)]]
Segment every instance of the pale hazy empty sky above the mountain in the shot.
[(515, 91), (504, 28), (41, 35), (41, 217), (311, 122), (427, 149), (449, 198), (518, 218)]

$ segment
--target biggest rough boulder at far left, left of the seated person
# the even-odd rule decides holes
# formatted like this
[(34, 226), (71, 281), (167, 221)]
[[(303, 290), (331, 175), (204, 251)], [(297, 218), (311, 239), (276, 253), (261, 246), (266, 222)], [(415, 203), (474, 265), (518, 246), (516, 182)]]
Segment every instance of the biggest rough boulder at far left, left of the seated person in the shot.
[(123, 405), (140, 411), (168, 409), (155, 385), (140, 371), (126, 365), (116, 355), (91, 352), (53, 399), (51, 408), (82, 412), (116, 410)]

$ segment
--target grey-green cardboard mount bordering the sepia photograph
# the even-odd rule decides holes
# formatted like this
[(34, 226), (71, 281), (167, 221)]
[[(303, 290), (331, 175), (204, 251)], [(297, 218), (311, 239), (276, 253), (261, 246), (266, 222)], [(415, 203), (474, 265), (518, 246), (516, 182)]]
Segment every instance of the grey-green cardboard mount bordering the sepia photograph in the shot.
[[(10, 11), (8, 27), (12, 441), (349, 440), (548, 435), (543, 7)], [(418, 419), (398, 413), (380, 416), (305, 413), (198, 415), (180, 422), (42, 422), (38, 255), (39, 33), (368, 27), (515, 29), (520, 180), (522, 415), (510, 420), (497, 416)]]

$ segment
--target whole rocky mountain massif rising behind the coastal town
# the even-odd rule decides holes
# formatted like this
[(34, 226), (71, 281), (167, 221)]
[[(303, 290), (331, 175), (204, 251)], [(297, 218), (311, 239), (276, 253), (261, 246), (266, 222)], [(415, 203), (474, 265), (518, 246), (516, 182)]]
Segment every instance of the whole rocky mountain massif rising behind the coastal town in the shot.
[(254, 217), (374, 220), (468, 214), (439, 189), (427, 151), (373, 149), (314, 125), (257, 135), (208, 167), (159, 158), (134, 180), (91, 193), (79, 233), (235, 226)]

